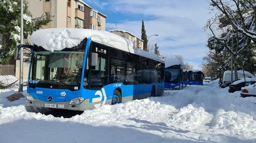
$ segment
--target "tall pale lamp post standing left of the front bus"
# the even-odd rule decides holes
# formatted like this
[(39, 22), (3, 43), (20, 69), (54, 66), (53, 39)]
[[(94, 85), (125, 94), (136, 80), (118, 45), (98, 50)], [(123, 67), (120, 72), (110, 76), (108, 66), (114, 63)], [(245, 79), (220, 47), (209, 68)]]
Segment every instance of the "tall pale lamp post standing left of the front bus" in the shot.
[[(21, 0), (21, 44), (23, 44), (23, 0)], [(19, 92), (23, 92), (23, 48), (20, 49), (20, 84)]]

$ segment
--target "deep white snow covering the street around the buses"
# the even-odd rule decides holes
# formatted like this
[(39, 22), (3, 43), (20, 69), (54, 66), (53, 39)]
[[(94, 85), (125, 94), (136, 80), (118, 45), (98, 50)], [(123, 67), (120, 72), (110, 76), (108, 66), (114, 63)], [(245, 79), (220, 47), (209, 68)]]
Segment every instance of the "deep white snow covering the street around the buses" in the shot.
[(228, 93), (217, 81), (71, 118), (27, 112), (25, 98), (5, 98), (17, 90), (0, 90), (0, 143), (256, 142), (256, 99)]

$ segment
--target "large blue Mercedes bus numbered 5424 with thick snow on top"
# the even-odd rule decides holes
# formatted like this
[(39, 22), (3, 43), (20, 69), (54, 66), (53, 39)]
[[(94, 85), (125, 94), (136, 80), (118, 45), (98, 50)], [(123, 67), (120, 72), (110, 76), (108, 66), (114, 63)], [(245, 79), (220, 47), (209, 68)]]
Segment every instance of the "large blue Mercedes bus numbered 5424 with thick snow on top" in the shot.
[(85, 111), (159, 96), (164, 61), (107, 31), (51, 28), (33, 32), (27, 107)]

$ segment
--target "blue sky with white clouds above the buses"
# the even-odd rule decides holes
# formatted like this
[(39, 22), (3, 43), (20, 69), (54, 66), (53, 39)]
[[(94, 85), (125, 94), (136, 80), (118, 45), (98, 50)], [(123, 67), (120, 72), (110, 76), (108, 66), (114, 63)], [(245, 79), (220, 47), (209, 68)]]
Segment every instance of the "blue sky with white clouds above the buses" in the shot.
[[(141, 38), (142, 19), (149, 47), (157, 43), (161, 55), (181, 55), (194, 69), (201, 69), (211, 18), (207, 0), (83, 0), (106, 15), (106, 30), (122, 29)], [(116, 24), (117, 23), (117, 24)]]

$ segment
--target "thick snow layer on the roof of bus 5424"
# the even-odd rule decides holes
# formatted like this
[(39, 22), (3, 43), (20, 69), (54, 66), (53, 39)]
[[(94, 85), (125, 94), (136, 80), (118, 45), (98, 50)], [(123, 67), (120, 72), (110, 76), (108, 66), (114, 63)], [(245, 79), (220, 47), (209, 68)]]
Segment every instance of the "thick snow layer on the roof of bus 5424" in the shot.
[(31, 36), (34, 44), (50, 51), (72, 48), (77, 46), (84, 38), (92, 38), (92, 41), (132, 54), (148, 57), (152, 60), (164, 62), (155, 54), (136, 48), (130, 40), (108, 31), (79, 28), (50, 28), (35, 31)]

